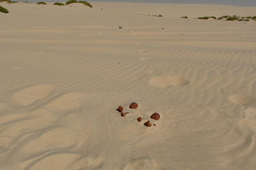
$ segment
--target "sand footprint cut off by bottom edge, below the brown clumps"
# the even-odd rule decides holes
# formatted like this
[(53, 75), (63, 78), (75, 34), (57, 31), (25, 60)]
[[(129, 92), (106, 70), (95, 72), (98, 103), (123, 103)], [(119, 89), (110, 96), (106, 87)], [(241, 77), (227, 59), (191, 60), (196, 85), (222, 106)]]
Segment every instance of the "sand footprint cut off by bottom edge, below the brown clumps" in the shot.
[(148, 170), (148, 169), (163, 170), (162, 167), (160, 167), (156, 162), (150, 159), (134, 160), (132, 162), (129, 162), (129, 164), (127, 164), (124, 167), (124, 170)]

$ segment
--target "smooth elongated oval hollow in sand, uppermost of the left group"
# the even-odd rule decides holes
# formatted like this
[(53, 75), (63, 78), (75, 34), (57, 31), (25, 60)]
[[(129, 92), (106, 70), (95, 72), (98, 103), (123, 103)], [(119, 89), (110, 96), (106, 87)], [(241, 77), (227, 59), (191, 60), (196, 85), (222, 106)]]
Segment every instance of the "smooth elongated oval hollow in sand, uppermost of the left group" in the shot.
[(51, 85), (36, 85), (15, 92), (10, 97), (10, 105), (15, 108), (29, 106), (40, 99), (50, 96), (56, 88)]

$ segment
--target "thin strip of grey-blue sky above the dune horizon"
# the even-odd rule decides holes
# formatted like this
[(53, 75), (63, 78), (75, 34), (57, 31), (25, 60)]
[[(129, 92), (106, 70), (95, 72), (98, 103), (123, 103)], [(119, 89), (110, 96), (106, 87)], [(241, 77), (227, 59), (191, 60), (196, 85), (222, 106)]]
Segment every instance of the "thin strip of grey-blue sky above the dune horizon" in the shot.
[[(27, 0), (31, 2), (38, 2), (42, 0)], [(48, 2), (64, 2), (65, 0), (45, 0)], [(68, 0), (67, 0), (68, 1)], [(88, 2), (109, 2), (115, 0), (88, 0)], [(228, 4), (236, 6), (256, 6), (256, 0), (117, 0), (118, 2), (136, 2), (136, 3), (185, 3), (185, 4)], [(256, 11), (255, 11), (256, 15)]]

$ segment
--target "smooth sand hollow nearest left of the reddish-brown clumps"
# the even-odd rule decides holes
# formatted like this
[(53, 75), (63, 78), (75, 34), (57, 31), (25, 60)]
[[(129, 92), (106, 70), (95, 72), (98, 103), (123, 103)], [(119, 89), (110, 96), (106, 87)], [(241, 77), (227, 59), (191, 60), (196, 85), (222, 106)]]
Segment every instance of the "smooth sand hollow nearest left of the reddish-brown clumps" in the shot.
[(63, 94), (63, 96), (60, 96), (54, 101), (46, 104), (44, 108), (58, 112), (74, 111), (83, 106), (83, 98), (86, 96), (90, 95), (84, 94), (83, 92), (70, 92), (68, 94)]

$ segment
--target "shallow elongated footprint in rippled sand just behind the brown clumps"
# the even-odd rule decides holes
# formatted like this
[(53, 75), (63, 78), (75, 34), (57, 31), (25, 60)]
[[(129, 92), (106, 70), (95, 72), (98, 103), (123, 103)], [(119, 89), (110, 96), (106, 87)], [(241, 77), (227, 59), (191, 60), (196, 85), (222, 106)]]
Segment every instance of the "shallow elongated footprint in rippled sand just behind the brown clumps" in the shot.
[(154, 87), (170, 87), (188, 85), (189, 81), (182, 76), (161, 76), (150, 78), (148, 83)]

